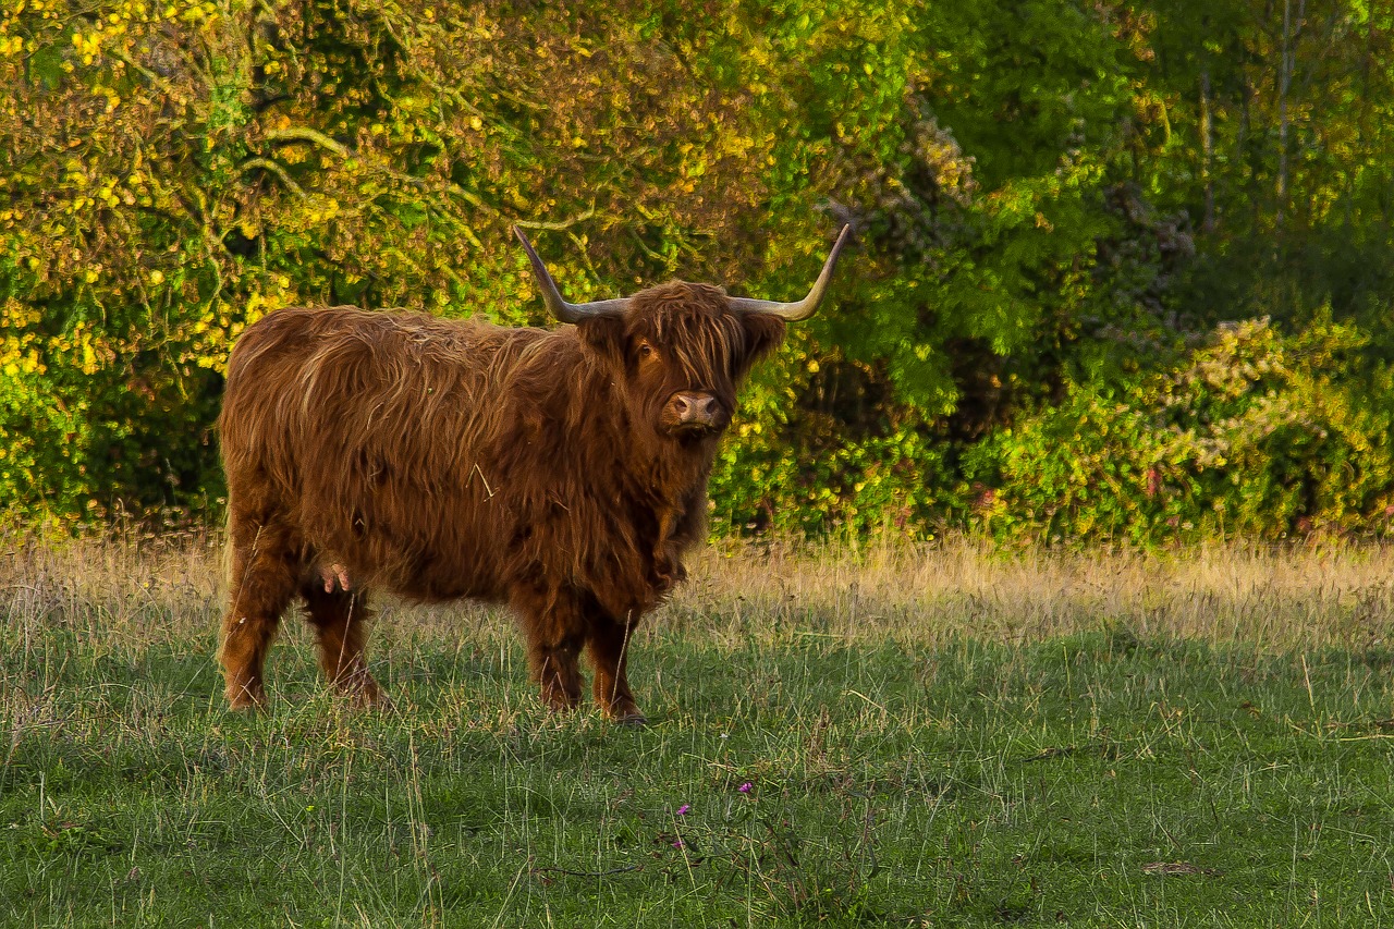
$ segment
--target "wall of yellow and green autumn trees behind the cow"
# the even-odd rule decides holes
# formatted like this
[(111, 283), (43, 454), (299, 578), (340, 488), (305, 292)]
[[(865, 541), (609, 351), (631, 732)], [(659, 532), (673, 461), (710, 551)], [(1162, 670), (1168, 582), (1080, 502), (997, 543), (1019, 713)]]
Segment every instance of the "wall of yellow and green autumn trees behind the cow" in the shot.
[(1372, 527), (1394, 21), (1282, 10), (13, 3), (0, 519), (216, 518), (212, 423), (245, 325), (316, 303), (538, 322), (513, 223), (587, 299), (668, 276), (792, 296), (853, 222), (831, 308), (750, 386), (718, 526), (927, 533), (988, 491), (1034, 501), (1030, 471), (994, 458), (1013, 437), (1064, 405), (1107, 448), (1140, 427), (1090, 398), (1185, 379), (1171, 346), (1267, 318), (1362, 333), (1323, 391), (1368, 395), (1351, 430), (1372, 441), (1303, 452), (1355, 474), (1358, 499), (1104, 501), (1129, 474), (1066, 506), (1097, 502), (1090, 519), (1033, 502), (991, 523)]

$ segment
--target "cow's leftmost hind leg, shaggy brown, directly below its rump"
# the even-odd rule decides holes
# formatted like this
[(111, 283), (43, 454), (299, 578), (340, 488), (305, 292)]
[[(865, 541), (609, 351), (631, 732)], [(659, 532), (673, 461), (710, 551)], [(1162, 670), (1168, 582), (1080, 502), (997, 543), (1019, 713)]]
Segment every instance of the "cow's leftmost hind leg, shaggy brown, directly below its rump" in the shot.
[(296, 594), (300, 566), (287, 533), (231, 526), (229, 607), (219, 661), (234, 710), (266, 704), (262, 670), (280, 614)]

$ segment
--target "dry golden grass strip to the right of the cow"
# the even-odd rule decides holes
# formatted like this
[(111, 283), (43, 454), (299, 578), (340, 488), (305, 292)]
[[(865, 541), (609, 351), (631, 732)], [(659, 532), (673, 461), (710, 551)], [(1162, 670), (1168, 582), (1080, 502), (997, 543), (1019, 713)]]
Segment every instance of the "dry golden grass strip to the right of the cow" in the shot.
[(1373, 647), (1394, 612), (1383, 547), (1005, 551), (933, 545), (708, 551), (661, 622), (758, 629), (769, 617), (849, 642), (1033, 642), (1124, 628), (1139, 636), (1271, 649)]

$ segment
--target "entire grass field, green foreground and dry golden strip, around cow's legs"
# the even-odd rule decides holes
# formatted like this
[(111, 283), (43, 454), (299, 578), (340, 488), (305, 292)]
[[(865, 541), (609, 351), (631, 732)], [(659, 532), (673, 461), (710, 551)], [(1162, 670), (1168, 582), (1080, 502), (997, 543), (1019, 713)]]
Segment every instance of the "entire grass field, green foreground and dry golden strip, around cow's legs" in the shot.
[(0, 543), (0, 923), (1394, 925), (1394, 552), (712, 550), (643, 731), (470, 607), (230, 714), (219, 564)]

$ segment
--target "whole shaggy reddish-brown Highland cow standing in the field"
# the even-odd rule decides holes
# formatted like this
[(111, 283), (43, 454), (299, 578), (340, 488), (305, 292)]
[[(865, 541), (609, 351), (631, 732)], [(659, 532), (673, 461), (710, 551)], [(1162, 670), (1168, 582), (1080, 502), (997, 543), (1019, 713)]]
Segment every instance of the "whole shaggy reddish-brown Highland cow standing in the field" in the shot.
[(569, 304), (523, 233), (556, 331), (280, 310), (233, 350), (219, 418), (229, 508), (220, 660), (234, 707), (298, 594), (340, 689), (372, 703), (367, 591), (509, 604), (542, 699), (644, 721), (625, 677), (640, 617), (682, 580), (717, 441), (751, 364), (822, 300), (668, 283)]

